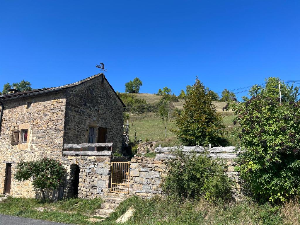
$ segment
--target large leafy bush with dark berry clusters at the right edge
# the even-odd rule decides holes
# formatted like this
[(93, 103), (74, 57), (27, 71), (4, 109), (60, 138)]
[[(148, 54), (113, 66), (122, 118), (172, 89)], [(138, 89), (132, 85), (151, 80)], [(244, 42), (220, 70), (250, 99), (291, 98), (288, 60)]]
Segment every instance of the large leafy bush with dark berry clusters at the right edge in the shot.
[(300, 102), (280, 104), (265, 88), (255, 93), (231, 104), (244, 151), (236, 169), (254, 197), (283, 202), (300, 193)]

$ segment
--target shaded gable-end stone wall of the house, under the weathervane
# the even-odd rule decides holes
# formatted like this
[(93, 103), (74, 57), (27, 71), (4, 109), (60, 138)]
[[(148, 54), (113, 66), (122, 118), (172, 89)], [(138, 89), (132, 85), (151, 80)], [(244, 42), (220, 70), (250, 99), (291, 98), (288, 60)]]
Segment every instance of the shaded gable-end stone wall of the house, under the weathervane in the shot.
[(67, 89), (64, 143), (88, 143), (88, 129), (107, 128), (107, 143), (120, 152), (123, 140), (123, 105), (102, 76)]

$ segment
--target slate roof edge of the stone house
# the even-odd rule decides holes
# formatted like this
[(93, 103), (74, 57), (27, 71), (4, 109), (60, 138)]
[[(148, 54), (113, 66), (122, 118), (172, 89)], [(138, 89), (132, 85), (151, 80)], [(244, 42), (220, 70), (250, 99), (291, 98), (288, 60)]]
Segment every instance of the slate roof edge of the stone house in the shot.
[(118, 97), (118, 99), (121, 101), (122, 105), (125, 107), (125, 104), (119, 98), (119, 96), (117, 95), (116, 91), (110, 85), (110, 83), (108, 82), (108, 80), (106, 79), (106, 77), (104, 76), (103, 73), (98, 73), (98, 74), (95, 74), (95, 75), (90, 76), (88, 78), (85, 78), (83, 80), (79, 80), (77, 82), (74, 82), (74, 83), (71, 83), (71, 84), (62, 85), (62, 86), (59, 86), (59, 87), (34, 89), (32, 91), (21, 91), (21, 92), (15, 92), (15, 93), (10, 93), (10, 94), (0, 95), (0, 101), (1, 100), (10, 100), (10, 99), (12, 100), (12, 99), (16, 99), (16, 98), (23, 98), (23, 97), (33, 96), (33, 95), (47, 94), (47, 93), (54, 92), (54, 91), (61, 91), (61, 90), (64, 90), (66, 88), (71, 88), (71, 87), (77, 86), (79, 84), (87, 82), (88, 80), (94, 79), (94, 78), (96, 78), (98, 76), (102, 76), (102, 75), (103, 75), (104, 79), (107, 81), (107, 83), (110, 86), (110, 88), (116, 94), (116, 96)]

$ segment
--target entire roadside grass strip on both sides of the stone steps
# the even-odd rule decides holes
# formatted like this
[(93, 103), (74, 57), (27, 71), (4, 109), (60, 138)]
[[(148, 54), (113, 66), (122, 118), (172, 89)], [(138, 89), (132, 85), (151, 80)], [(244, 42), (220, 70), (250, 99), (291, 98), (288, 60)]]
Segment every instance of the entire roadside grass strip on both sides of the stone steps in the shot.
[[(78, 204), (80, 203), (80, 204)], [(122, 202), (116, 211), (106, 220), (91, 223), (88, 216), (80, 212), (88, 212), (91, 205), (97, 205), (99, 199), (67, 199), (58, 202), (41, 202), (37, 199), (8, 197), (0, 202), (0, 213), (34, 219), (49, 220), (73, 224), (115, 225), (116, 219), (129, 207), (135, 209), (133, 216), (124, 225), (299, 225), (300, 202), (295, 199), (283, 205), (272, 206), (259, 204), (251, 200), (212, 204), (204, 199), (197, 201), (174, 198), (155, 197), (141, 199), (133, 196)], [(37, 207), (44, 207), (38, 211)], [(97, 206), (98, 207), (98, 206)], [(73, 213), (59, 212), (58, 209)]]

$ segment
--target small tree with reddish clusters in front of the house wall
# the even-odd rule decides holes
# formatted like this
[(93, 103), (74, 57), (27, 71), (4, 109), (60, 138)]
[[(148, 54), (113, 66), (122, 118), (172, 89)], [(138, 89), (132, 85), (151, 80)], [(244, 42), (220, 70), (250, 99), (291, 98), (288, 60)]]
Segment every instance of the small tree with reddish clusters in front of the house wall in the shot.
[(35, 161), (21, 161), (16, 164), (14, 177), (17, 181), (32, 181), (32, 186), (41, 189), (45, 200), (45, 188), (57, 189), (64, 182), (65, 169), (60, 162), (43, 158)]

